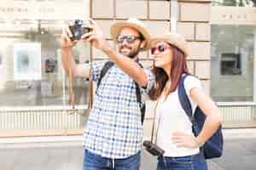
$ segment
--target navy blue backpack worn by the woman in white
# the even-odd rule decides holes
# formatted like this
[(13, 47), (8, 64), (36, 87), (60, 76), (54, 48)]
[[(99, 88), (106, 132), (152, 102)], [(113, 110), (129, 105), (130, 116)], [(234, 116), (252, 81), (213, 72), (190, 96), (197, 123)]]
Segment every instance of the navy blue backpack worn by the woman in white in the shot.
[[(181, 77), (177, 93), (183, 110), (186, 112), (186, 114), (189, 116), (189, 120), (192, 122), (193, 133), (195, 136), (197, 136), (201, 132), (201, 129), (206, 120), (206, 116), (198, 106), (195, 108), (195, 113), (193, 115), (191, 104), (184, 88), (184, 80), (188, 76), (191, 75), (184, 75)], [(224, 143), (223, 140), (222, 126), (220, 125), (218, 130), (213, 133), (212, 137), (208, 139), (207, 142), (200, 148), (201, 152), (205, 156), (205, 159), (222, 156)]]

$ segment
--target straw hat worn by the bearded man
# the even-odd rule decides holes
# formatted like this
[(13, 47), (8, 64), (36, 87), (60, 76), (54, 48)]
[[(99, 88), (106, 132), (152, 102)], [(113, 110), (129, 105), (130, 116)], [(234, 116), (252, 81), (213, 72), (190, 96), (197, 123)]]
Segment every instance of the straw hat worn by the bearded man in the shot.
[(127, 21), (120, 21), (115, 23), (113, 26), (111, 26), (110, 28), (110, 35), (113, 39), (114, 42), (116, 42), (116, 37), (119, 35), (119, 32), (121, 31), (121, 29), (123, 27), (132, 27), (134, 29), (136, 29), (137, 31), (139, 31), (143, 37), (145, 38), (146, 44), (143, 48), (141, 48), (143, 51), (146, 51), (150, 48), (150, 34), (149, 32), (146, 30), (146, 28), (144, 28), (143, 26), (137, 25), (135, 23), (130, 23)]

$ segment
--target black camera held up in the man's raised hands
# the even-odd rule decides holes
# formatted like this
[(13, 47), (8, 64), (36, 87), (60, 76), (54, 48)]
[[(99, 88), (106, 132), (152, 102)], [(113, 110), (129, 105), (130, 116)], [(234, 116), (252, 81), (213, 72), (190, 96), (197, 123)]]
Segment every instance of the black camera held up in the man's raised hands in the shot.
[(84, 24), (83, 20), (75, 20), (73, 26), (69, 26), (70, 31), (73, 34), (73, 37), (70, 37), (70, 39), (73, 40), (79, 40), (85, 33), (88, 33), (91, 31), (90, 28), (82, 27)]

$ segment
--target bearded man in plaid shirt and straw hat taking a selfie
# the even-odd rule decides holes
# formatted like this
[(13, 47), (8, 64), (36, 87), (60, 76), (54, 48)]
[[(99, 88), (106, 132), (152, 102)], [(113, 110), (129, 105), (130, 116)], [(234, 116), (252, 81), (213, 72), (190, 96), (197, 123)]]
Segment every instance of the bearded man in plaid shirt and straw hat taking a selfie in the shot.
[[(81, 40), (91, 42), (119, 66), (113, 65), (108, 70), (96, 90), (84, 131), (84, 169), (139, 170), (143, 126), (135, 81), (143, 87), (143, 93), (148, 93), (154, 84), (154, 76), (148, 69), (141, 69), (134, 60), (138, 60), (141, 50), (149, 48), (150, 36), (139, 20), (117, 22), (111, 27), (111, 36), (119, 49), (119, 52), (115, 52), (102, 37), (102, 31), (95, 21), (91, 22), (93, 31), (84, 34)], [(70, 41), (71, 36), (69, 29), (63, 30), (61, 53), (66, 71), (69, 67), (67, 58), (72, 56), (72, 48), (76, 43)], [(72, 61), (73, 76), (91, 77), (92, 81), (97, 82), (105, 64), (106, 61), (94, 61), (90, 68), (90, 65), (75, 65)], [(137, 77), (133, 80), (133, 75), (127, 71), (129, 65), (137, 65), (137, 71), (146, 81), (140, 82)]]

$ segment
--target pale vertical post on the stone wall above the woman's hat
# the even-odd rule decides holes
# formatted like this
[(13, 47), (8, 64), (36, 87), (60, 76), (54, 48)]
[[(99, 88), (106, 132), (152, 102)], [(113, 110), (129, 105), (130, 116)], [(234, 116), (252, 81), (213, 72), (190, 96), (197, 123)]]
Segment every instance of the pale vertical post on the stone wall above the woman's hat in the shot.
[(170, 31), (177, 32), (177, 0), (170, 1)]

